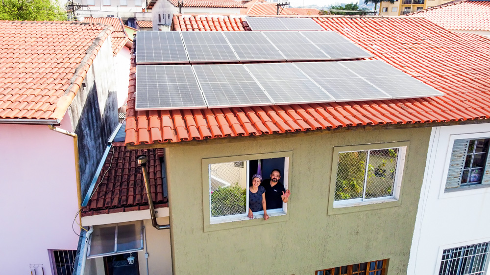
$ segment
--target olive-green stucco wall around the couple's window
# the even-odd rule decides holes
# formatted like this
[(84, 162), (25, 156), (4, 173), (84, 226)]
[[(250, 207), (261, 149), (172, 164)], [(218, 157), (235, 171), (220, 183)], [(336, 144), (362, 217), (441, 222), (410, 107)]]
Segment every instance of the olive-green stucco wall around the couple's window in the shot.
[[(430, 128), (380, 129), (235, 138), (231, 143), (218, 139), (167, 148), (174, 274), (313, 275), (319, 269), (385, 258), (390, 259), (388, 275), (406, 274)], [(355, 206), (359, 211), (327, 214), (333, 203), (334, 146), (407, 140), (399, 206)], [(202, 159), (281, 151), (293, 152), (288, 218), (205, 232)]]

